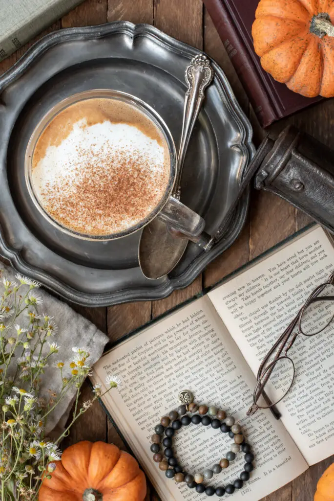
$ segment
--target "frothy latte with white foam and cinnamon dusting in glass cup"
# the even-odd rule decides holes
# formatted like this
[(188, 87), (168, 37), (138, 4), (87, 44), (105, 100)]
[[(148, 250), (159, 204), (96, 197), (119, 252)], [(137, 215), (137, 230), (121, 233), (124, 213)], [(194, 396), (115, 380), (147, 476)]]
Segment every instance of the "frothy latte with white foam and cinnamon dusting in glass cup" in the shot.
[(71, 231), (106, 236), (145, 220), (165, 194), (165, 137), (135, 106), (90, 98), (59, 112), (32, 156), (31, 182), (46, 213)]

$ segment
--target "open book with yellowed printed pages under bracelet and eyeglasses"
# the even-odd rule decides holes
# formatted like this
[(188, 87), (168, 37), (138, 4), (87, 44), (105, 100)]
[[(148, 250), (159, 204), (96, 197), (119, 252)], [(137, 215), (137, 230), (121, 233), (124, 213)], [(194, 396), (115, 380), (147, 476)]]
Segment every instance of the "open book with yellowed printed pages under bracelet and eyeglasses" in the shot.
[[(185, 483), (168, 479), (152, 461), (150, 436), (160, 418), (178, 406), (188, 389), (197, 403), (215, 405), (236, 418), (255, 455), (250, 479), (234, 501), (257, 501), (300, 475), (334, 450), (334, 327), (299, 335), (289, 356), (293, 386), (277, 405), (281, 419), (259, 410), (247, 417), (265, 353), (314, 287), (334, 269), (334, 243), (313, 226), (243, 267), (206, 295), (129, 335), (94, 366), (93, 383), (108, 374), (122, 379), (103, 404), (162, 500), (200, 499)], [(202, 472), (225, 456), (231, 439), (210, 426), (175, 433), (179, 463)], [(244, 464), (236, 454), (209, 485), (233, 483)], [(206, 497), (204, 495), (204, 497)], [(218, 499), (215, 495), (212, 499)]]

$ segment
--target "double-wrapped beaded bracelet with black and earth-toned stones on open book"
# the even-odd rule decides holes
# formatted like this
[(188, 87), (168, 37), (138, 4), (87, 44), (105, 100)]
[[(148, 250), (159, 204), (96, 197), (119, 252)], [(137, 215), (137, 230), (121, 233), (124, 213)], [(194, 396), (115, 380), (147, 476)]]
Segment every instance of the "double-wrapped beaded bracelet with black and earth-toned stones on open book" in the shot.
[[(253, 470), (252, 461), (254, 455), (251, 453), (250, 445), (245, 443), (243, 435), (241, 434), (241, 427), (235, 424), (232, 416), (227, 416), (225, 411), (218, 410), (216, 407), (207, 407), (206, 405), (197, 405), (193, 402), (193, 395), (188, 390), (183, 390), (178, 396), (180, 406), (177, 410), (169, 412), (168, 416), (163, 416), (160, 424), (154, 428), (155, 433), (151, 437), (152, 445), (150, 446), (151, 452), (154, 453), (153, 461), (159, 463), (159, 468), (165, 471), (167, 478), (174, 478), (177, 483), (185, 482), (189, 488), (195, 488), (196, 492), (205, 492), (206, 495), (211, 496), (216, 494), (218, 497), (222, 496), (225, 492), (231, 494), (234, 489), (240, 489), (243, 482), (249, 479), (249, 473)], [(194, 414), (198, 411), (198, 414)], [(187, 412), (193, 414), (190, 418)], [(180, 418), (180, 419), (178, 419)], [(172, 446), (172, 437), (176, 430), (181, 426), (188, 426), (190, 423), (202, 424), (203, 426), (211, 425), (212, 428), (220, 428), (222, 433), (234, 439), (227, 452), (226, 457), (222, 458), (219, 463), (212, 466), (212, 469), (205, 469), (202, 474), (196, 473), (194, 476), (183, 471), (183, 468), (178, 464), (177, 459), (174, 457)], [(162, 441), (164, 454), (160, 452), (160, 442), (163, 433), (166, 435)], [(210, 485), (204, 486), (204, 479), (212, 478), (214, 473), (220, 473), (222, 469), (228, 467), (229, 462), (235, 459), (235, 454), (239, 450), (244, 452), (245, 464), (243, 471), (240, 473), (239, 478), (234, 480), (233, 484), (228, 484), (225, 487), (212, 487)], [(163, 455), (165, 459), (163, 459)]]

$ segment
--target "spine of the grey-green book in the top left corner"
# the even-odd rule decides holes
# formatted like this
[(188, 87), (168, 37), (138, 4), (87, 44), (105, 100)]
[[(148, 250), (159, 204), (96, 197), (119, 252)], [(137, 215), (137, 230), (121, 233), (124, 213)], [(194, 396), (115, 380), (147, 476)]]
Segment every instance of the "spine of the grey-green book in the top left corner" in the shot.
[(10, 56), (35, 35), (81, 4), (82, 1), (59, 0), (56, 3), (53, 2), (34, 13), (30, 19), (25, 19), (24, 24), (12, 33), (7, 32), (2, 38), (0, 33), (0, 61)]

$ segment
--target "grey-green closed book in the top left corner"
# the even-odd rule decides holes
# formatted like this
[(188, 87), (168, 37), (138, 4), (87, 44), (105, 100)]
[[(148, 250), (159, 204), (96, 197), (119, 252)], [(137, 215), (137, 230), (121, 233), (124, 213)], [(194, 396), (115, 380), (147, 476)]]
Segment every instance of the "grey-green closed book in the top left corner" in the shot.
[(82, 0), (0, 0), (0, 61)]

